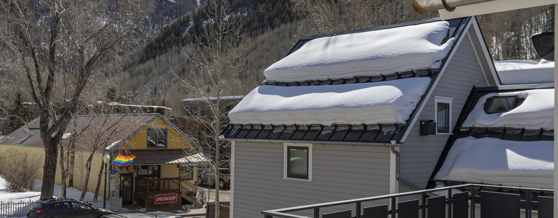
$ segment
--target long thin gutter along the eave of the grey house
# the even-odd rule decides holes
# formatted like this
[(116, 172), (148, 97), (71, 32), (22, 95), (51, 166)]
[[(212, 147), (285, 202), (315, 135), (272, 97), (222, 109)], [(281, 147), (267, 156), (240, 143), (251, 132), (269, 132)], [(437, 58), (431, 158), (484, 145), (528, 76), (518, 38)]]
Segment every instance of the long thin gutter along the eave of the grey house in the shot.
[(378, 142), (339, 142), (339, 141), (303, 141), (303, 140), (288, 140), (288, 139), (238, 139), (238, 138), (223, 138), (221, 141), (237, 141), (237, 142), (280, 142), (280, 143), (311, 143), (311, 144), (333, 144), (336, 146), (372, 146), (372, 147), (401, 147), (403, 143), (378, 143)]

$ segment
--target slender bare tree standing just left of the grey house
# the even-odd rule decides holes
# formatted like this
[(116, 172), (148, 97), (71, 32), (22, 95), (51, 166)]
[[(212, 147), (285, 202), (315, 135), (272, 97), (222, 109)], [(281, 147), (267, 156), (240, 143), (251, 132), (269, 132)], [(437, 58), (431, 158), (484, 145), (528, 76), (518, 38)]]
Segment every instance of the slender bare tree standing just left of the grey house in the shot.
[[(193, 40), (191, 52), (184, 51), (184, 54), (189, 54), (187, 58), (192, 62), (194, 72), (181, 78), (181, 85), (189, 89), (194, 98), (203, 102), (211, 113), (210, 117), (198, 117), (193, 121), (206, 128), (206, 132), (201, 134), (204, 134), (203, 138), (208, 138), (206, 144), (213, 146), (200, 146), (201, 150), (186, 152), (205, 154), (215, 174), (214, 181), (218, 183), (222, 162), (219, 148), (223, 145), (218, 137), (226, 117), (220, 102), (232, 86), (238, 85), (238, 75), (243, 70), (246, 52), (241, 44), (243, 35), (240, 24), (243, 17), (240, 12), (230, 11), (228, 1), (209, 1), (206, 13), (208, 20), (204, 22), (203, 33)], [(216, 100), (211, 100), (213, 98)], [(215, 217), (219, 217), (219, 186), (215, 186)]]

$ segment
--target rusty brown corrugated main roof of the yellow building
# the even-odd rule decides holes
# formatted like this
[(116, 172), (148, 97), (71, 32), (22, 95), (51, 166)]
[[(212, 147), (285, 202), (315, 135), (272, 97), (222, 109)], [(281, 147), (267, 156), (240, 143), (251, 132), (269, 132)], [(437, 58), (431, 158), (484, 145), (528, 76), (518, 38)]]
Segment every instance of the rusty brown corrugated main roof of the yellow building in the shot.
[[(61, 143), (63, 147), (68, 148), (71, 137), (79, 134), (75, 143), (78, 151), (103, 151), (107, 147), (112, 151), (157, 118), (161, 118), (182, 134), (182, 137), (188, 139), (161, 114), (99, 114), (78, 115), (70, 120)], [(35, 118), (29, 122), (29, 126), (23, 125), (0, 139), (0, 144), (43, 147), (40, 134), (39, 118)], [(98, 141), (97, 145), (95, 140)]]

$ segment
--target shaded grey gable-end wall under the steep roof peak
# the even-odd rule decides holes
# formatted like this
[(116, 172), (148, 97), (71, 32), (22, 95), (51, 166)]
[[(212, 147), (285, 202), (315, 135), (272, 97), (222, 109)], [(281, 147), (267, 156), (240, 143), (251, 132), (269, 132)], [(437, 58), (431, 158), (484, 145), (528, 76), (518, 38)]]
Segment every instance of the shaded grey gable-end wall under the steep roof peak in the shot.
[[(465, 35), (417, 120), (434, 120), (434, 96), (453, 98), (451, 105), (451, 129), (453, 130), (473, 86), (487, 86), (487, 81), (469, 36)], [(449, 135), (419, 136), (419, 128), (420, 122), (417, 121), (406, 138), (404, 146), (399, 150), (400, 176), (420, 188), (425, 188)], [(407, 191), (415, 190), (400, 182), (399, 192)]]

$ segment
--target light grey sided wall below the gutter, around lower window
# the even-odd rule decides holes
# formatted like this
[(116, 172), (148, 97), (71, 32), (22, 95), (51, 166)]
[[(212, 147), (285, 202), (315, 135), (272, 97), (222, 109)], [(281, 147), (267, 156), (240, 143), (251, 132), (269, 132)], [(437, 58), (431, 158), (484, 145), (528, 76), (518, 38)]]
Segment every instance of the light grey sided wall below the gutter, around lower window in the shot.
[[(301, 181), (283, 178), (283, 143), (235, 142), (234, 146), (234, 217), (259, 218), (264, 210), (389, 193), (389, 148), (314, 144), (312, 181)], [(354, 205), (320, 212), (349, 209)], [(311, 212), (298, 215), (311, 216)]]

